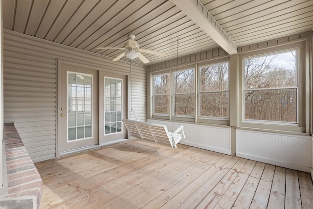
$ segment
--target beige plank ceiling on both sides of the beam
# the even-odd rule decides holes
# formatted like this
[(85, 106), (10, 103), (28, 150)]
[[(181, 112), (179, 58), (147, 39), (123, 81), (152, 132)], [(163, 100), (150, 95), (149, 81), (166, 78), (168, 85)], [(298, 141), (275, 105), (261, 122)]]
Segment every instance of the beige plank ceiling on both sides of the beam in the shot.
[[(313, 28), (312, 0), (200, 1), (238, 47)], [(3, 0), (3, 26), (112, 59), (122, 50), (96, 47), (123, 47), (134, 34), (140, 48), (165, 54), (143, 53), (146, 65), (174, 59), (178, 39), (179, 56), (219, 46), (179, 8), (171, 0)]]

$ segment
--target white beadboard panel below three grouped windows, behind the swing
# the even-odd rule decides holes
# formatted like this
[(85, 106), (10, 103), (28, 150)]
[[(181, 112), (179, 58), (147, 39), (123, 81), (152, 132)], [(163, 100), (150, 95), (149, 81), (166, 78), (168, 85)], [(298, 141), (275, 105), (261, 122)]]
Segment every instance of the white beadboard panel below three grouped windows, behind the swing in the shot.
[(166, 125), (170, 132), (175, 131), (179, 125), (183, 125), (186, 139), (181, 139), (179, 143), (227, 155), (231, 154), (231, 128), (178, 122), (174, 122), (173, 128), (173, 122), (170, 121), (148, 119), (148, 122)]

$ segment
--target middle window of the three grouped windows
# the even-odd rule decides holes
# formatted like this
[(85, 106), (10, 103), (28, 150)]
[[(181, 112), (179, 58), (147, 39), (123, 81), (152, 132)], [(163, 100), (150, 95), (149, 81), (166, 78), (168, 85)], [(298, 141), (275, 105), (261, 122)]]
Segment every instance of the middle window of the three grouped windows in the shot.
[(195, 116), (195, 69), (175, 71), (173, 115)]

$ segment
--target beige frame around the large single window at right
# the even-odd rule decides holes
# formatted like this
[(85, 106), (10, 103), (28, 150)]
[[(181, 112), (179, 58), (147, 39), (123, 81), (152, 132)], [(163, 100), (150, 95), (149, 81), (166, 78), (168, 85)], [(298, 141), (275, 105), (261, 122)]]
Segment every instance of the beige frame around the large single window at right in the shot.
[[(296, 87), (297, 87), (297, 123), (285, 121), (268, 121), (245, 118), (245, 64), (244, 60), (249, 58), (264, 57), (297, 51), (296, 55)], [(264, 48), (239, 54), (239, 122), (238, 126), (243, 128), (257, 128), (266, 130), (281, 130), (292, 132), (305, 132), (305, 44), (303, 42), (290, 45)], [(282, 87), (286, 89), (289, 87)], [(274, 89), (274, 88), (269, 88)], [(268, 89), (264, 89), (268, 90)], [(248, 91), (248, 89), (246, 90)]]

